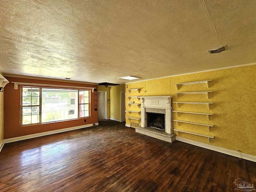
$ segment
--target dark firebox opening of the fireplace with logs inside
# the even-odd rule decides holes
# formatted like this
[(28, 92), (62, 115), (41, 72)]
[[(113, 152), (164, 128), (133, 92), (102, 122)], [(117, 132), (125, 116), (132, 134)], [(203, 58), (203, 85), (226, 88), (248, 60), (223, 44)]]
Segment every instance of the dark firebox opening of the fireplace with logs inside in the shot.
[(165, 130), (165, 114), (146, 112), (147, 126), (158, 130)]

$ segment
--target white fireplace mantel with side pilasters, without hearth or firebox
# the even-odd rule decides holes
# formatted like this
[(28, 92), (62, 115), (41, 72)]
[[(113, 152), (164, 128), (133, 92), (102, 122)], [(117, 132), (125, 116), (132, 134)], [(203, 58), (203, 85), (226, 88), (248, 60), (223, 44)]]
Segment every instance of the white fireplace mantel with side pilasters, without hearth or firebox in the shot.
[(172, 96), (142, 96), (141, 100), (141, 126), (146, 127), (145, 108), (164, 109), (165, 110), (165, 132), (173, 134), (171, 118), (171, 100)]

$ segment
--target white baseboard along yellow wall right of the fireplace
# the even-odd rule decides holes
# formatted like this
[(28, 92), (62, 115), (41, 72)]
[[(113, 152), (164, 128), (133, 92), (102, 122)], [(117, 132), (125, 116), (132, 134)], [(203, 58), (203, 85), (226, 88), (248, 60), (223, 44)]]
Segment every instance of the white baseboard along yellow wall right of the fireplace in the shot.
[(193, 141), (193, 140), (182, 138), (182, 137), (179, 137), (179, 136), (176, 136), (176, 140), (184, 142), (184, 143), (192, 144), (192, 145), (195, 145), (195, 146), (198, 146), (198, 147), (210, 149), (210, 150), (213, 150), (213, 151), (216, 151), (216, 152), (220, 152), (220, 153), (224, 153), (224, 154), (227, 154), (227, 155), (231, 155), (231, 156), (235, 156), (235, 157), (238, 157), (238, 158), (242, 158), (242, 159), (246, 159), (246, 160), (249, 160), (249, 161), (256, 162), (256, 156), (253, 156), (253, 155), (240, 153), (238, 151), (225, 149), (225, 148), (222, 148), (222, 147), (212, 146), (212, 145), (209, 145), (209, 144)]

